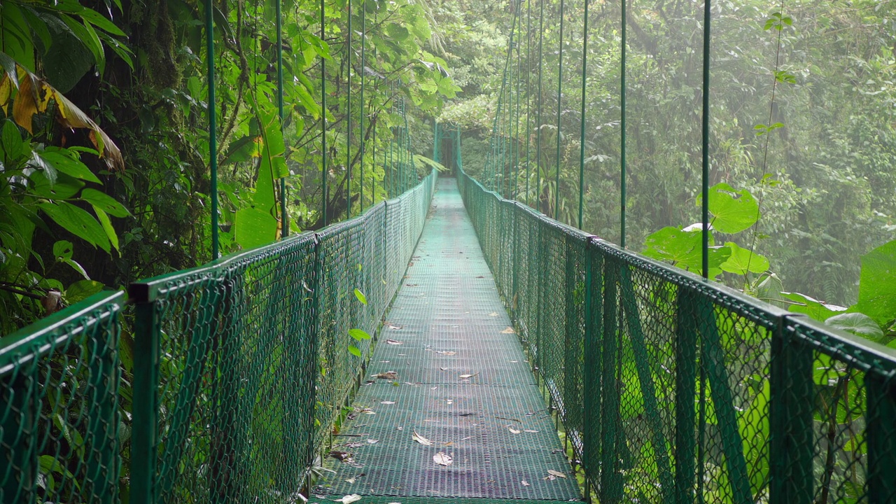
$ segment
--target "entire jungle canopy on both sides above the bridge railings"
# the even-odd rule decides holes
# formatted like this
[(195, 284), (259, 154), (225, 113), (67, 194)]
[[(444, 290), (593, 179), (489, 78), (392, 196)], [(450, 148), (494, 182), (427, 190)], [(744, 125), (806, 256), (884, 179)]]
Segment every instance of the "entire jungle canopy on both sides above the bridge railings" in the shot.
[[(519, 86), (521, 133), (511, 141), (524, 152), (516, 168), (527, 175), (505, 196), (575, 224), (582, 2), (565, 4), (562, 46), (560, 0), (355, 0), (350, 11), (346, 0), (323, 5), (322, 31), (321, 4), (280, 4), (281, 127), (278, 3), (214, 3), (222, 253), (280, 236), (280, 179), (292, 232), (357, 215), (386, 197), (377, 156), (389, 149), (405, 104), (405, 147), (422, 154), (413, 159), (421, 173), (432, 165), (424, 155), (432, 155), (435, 119), (461, 128), (464, 166), (481, 176), (497, 103), (506, 97), (506, 61)], [(681, 240), (700, 220), (703, 5), (625, 6), (627, 246), (686, 267), (691, 248)], [(202, 4), (4, 0), (0, 13), (0, 330), (99, 289), (210, 260)], [(741, 213), (754, 213), (745, 227), (717, 227), (725, 236), (719, 246), (737, 243), (729, 253), (748, 258), (716, 276), (782, 306), (820, 310), (820, 318), (861, 306), (862, 285), (893, 275), (892, 247), (884, 244), (896, 238), (896, 2), (733, 0), (713, 4), (712, 16), (711, 183), (719, 195), (741, 195)], [(615, 242), (620, 19), (618, 2), (590, 2), (581, 187), (582, 229)], [(326, 216), (323, 116), (331, 159)], [(864, 263), (881, 267), (865, 270)], [(874, 287), (866, 308), (869, 296), (889, 304), (861, 311), (890, 335), (896, 294), (887, 292)]]

